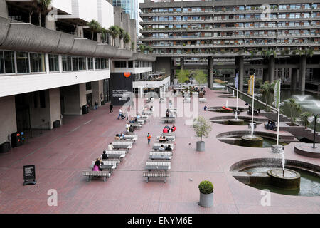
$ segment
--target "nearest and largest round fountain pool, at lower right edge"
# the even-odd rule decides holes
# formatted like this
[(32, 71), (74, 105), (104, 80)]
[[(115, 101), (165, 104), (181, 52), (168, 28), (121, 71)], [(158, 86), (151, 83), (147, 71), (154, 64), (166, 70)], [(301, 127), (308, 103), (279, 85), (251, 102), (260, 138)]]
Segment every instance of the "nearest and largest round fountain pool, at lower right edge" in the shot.
[[(282, 195), (320, 196), (320, 167), (318, 165), (286, 160), (285, 170), (284, 177), (281, 177), (283, 175), (281, 160), (276, 158), (244, 160), (230, 168), (235, 179), (259, 190), (267, 189)], [(272, 176), (280, 179), (274, 182)], [(292, 181), (294, 187), (291, 185)]]

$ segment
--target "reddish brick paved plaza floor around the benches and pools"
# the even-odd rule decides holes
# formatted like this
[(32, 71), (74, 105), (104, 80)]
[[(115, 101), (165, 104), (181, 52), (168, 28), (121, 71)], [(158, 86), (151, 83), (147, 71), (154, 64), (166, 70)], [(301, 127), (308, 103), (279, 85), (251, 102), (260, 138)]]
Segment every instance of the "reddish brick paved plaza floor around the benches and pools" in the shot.
[[(225, 104), (218, 91), (208, 90), (208, 107)], [(235, 99), (228, 100), (230, 106)], [(240, 100), (240, 106), (245, 103)], [(94, 179), (86, 182), (86, 170), (107, 149), (114, 135), (124, 130), (125, 120), (117, 120), (119, 108), (109, 113), (109, 105), (88, 115), (65, 118), (60, 128), (33, 138), (22, 147), (0, 155), (0, 213), (319, 213), (320, 197), (298, 197), (272, 193), (271, 206), (262, 207), (260, 190), (249, 187), (230, 174), (230, 166), (240, 160), (274, 157), (270, 148), (248, 148), (228, 145), (215, 138), (218, 133), (246, 130), (247, 126), (213, 123), (206, 152), (196, 152), (191, 126), (184, 118), (176, 121), (176, 148), (171, 160), (171, 177), (167, 182), (146, 183), (142, 173), (156, 135), (164, 124), (151, 117), (135, 133), (139, 139), (124, 157), (107, 182)], [(205, 112), (199, 105), (199, 115), (209, 119), (221, 113)], [(228, 114), (227, 114), (228, 115)], [(232, 114), (230, 114), (232, 115)], [(242, 113), (241, 115), (247, 115)], [(263, 125), (257, 130), (265, 131)], [(153, 135), (147, 145), (146, 134)], [(281, 133), (280, 134), (287, 134)], [(189, 145), (191, 143), (191, 145)], [(285, 147), (286, 159), (320, 165), (316, 158), (294, 153), (294, 143)], [(36, 185), (23, 186), (23, 165), (36, 165)], [(211, 208), (198, 206), (198, 184), (210, 180), (214, 185)], [(58, 206), (49, 207), (47, 192), (58, 192)]]

